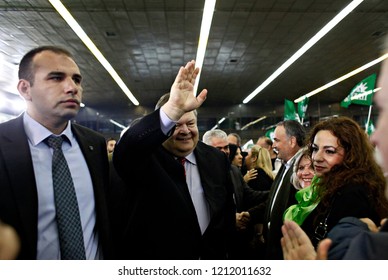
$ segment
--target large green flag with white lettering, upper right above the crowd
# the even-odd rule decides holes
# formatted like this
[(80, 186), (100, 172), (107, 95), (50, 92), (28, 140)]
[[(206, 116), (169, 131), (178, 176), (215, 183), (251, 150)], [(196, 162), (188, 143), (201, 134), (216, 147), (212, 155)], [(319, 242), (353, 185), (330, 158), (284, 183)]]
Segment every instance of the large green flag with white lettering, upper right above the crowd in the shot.
[(372, 105), (373, 90), (376, 84), (376, 74), (372, 74), (359, 82), (341, 102), (341, 106), (348, 108), (350, 104)]

